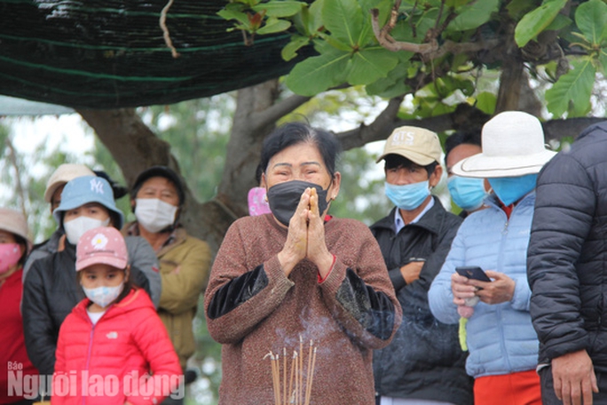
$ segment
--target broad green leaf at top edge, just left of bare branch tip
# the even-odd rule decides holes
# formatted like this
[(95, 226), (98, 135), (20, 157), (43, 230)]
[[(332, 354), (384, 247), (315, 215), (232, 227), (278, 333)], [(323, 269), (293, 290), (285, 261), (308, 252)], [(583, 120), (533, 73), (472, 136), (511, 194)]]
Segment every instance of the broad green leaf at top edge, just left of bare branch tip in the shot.
[(326, 1), (322, 8), (322, 20), (331, 36), (340, 42), (352, 48), (359, 44), (363, 15), (356, 0)]

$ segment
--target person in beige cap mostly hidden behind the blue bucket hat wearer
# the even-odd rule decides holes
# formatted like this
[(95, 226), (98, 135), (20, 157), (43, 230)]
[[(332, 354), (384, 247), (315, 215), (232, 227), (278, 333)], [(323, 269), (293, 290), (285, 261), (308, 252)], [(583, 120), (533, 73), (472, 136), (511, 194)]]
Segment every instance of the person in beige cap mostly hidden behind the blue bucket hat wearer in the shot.
[[(61, 203), (61, 192), (63, 191), (63, 187), (66, 187), (69, 180), (81, 176), (95, 176), (95, 173), (85, 165), (75, 163), (63, 163), (52, 172), (51, 177), (46, 182), (46, 189), (44, 190), (44, 201), (51, 204), (51, 215), (52, 211), (59, 207), (59, 203)], [(60, 250), (60, 246), (63, 245), (63, 240), (65, 239), (63, 237), (64, 234), (63, 228), (59, 226), (55, 232), (51, 234), (49, 239), (36, 244), (32, 248), (26, 263), (23, 266), (24, 281), (35, 260), (45, 258), (51, 253)]]

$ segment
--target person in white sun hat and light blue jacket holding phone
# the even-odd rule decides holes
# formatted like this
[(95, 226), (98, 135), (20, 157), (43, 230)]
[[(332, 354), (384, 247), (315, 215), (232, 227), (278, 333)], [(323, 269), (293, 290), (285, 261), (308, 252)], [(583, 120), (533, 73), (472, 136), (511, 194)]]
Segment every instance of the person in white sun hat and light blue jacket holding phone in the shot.
[[(430, 309), (440, 322), (468, 319), (462, 330), (475, 405), (541, 405), (526, 251), (537, 173), (555, 153), (544, 146), (540, 121), (524, 112), (495, 115), (483, 126), (482, 138), (482, 152), (455, 163), (452, 171), (488, 179), (493, 194), (485, 199), (485, 210), (461, 224), (430, 287)], [(469, 274), (463, 266), (479, 267), (477, 273), (484, 271), (490, 281), (458, 274)]]

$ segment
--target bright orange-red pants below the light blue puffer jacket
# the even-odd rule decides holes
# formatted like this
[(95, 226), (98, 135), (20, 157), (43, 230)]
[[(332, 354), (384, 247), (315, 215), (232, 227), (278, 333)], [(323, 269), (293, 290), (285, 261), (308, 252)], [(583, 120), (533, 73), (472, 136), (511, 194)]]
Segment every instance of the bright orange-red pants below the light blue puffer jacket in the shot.
[(541, 405), (540, 376), (534, 369), (474, 380), (475, 405)]

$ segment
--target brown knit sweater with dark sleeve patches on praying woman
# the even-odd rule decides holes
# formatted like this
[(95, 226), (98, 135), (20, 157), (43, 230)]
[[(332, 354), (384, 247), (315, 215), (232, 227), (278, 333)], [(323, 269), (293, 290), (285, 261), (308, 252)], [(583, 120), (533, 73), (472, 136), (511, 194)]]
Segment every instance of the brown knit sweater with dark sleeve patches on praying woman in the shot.
[[(272, 215), (240, 218), (228, 230), (205, 295), (210, 335), (223, 344), (220, 404), (275, 403), (271, 361), (264, 356), (270, 351), (280, 353), (282, 386), (283, 349), (288, 353), (289, 376), (293, 352), (299, 352), (300, 336), (303, 384), (310, 340), (317, 347), (311, 404), (374, 404), (372, 349), (390, 343), (400, 323), (401, 308), (382, 253), (367, 226), (352, 219), (333, 218), (325, 225), (325, 237), (328, 250), (335, 255), (335, 265), (327, 279), (319, 283), (318, 270), (308, 260), (299, 263), (289, 277), (280, 269), (277, 254), (286, 241), (287, 230), (278, 226)], [(263, 289), (226, 314), (215, 319), (209, 316), (217, 290), (260, 265), (259, 278), (266, 282)], [(367, 331), (359, 321), (360, 312), (369, 306), (360, 297), (364, 294), (344, 293), (349, 289), (343, 286), (351, 285), (348, 269), (356, 274), (354, 279), (364, 282), (360, 284), (363, 291), (372, 289), (372, 296), (379, 293), (390, 306), (392, 330), (384, 339)], [(354, 291), (360, 292), (360, 285)], [(250, 289), (241, 291), (243, 295), (250, 293)]]

